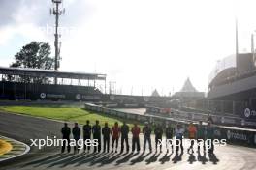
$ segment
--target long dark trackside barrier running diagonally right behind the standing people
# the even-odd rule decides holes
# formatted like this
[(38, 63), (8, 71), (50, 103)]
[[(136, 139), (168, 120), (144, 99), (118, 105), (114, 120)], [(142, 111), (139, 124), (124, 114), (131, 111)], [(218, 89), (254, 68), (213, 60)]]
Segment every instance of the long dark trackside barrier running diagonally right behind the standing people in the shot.
[[(125, 118), (129, 120), (134, 120), (137, 122), (150, 122), (161, 124), (163, 126), (167, 124), (181, 124), (184, 127), (187, 126), (188, 121), (180, 121), (176, 118), (163, 117), (158, 115), (140, 115), (135, 113), (127, 113), (122, 111), (113, 110), (110, 108), (86, 103), (84, 105), (85, 109), (90, 111), (98, 111), (103, 114), (113, 115), (119, 118)], [(197, 114), (194, 114), (194, 117), (200, 117)], [(214, 126), (214, 136), (218, 139), (226, 139), (228, 144), (236, 144), (247, 147), (256, 147), (256, 129), (246, 129), (246, 128), (232, 128), (224, 126)]]

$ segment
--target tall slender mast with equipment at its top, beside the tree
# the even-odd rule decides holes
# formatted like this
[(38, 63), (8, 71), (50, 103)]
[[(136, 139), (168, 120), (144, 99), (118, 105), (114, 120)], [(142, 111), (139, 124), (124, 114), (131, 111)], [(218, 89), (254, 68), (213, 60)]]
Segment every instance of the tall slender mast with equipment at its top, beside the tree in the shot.
[[(53, 14), (55, 16), (55, 33), (54, 33), (54, 47), (55, 47), (55, 66), (54, 70), (57, 71), (61, 60), (60, 58), (60, 43), (59, 38), (60, 34), (58, 33), (58, 26), (59, 26), (59, 15), (65, 13), (65, 9), (60, 7), (60, 4), (62, 3), (62, 0), (52, 0), (53, 7), (50, 9), (50, 14)], [(54, 84), (57, 84), (57, 78), (54, 78)]]

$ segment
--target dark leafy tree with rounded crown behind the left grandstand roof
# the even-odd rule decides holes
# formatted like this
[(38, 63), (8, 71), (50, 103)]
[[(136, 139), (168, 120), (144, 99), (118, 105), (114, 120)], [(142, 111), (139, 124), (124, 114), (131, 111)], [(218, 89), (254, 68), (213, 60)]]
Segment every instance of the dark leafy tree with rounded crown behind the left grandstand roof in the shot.
[[(11, 67), (52, 70), (54, 59), (50, 56), (50, 46), (46, 42), (30, 42), (15, 55)], [(20, 81), (41, 83), (43, 78), (20, 77)]]

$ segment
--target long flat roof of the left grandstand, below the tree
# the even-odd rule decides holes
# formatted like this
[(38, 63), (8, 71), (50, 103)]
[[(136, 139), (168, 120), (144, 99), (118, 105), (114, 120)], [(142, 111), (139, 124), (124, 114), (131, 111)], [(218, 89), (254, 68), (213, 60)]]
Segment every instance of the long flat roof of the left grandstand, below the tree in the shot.
[(85, 73), (72, 71), (54, 71), (54, 70), (40, 70), (28, 68), (8, 68), (0, 67), (0, 74), (6, 75), (22, 75), (30, 77), (57, 77), (70, 79), (90, 79), (90, 80), (106, 80), (106, 74), (101, 73)]

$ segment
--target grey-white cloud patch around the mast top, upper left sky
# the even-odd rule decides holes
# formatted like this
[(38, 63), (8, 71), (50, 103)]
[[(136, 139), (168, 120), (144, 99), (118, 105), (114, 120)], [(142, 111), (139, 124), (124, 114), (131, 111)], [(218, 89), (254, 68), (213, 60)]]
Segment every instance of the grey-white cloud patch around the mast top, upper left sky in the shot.
[[(60, 17), (60, 26), (64, 29), (78, 28), (80, 21), (88, 19), (93, 11), (93, 7), (83, 0), (66, 0), (63, 4), (61, 8), (65, 7), (66, 14)], [(34, 37), (35, 40), (39, 38), (38, 34), (40, 37), (43, 34), (45, 39), (52, 37), (53, 33), (50, 32), (48, 35), (46, 31), (44, 32), (48, 27), (54, 27), (54, 17), (49, 14), (50, 8), (53, 8), (51, 0), (1, 0), (0, 45), (16, 34), (23, 34), (28, 39)]]

